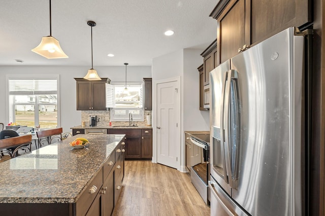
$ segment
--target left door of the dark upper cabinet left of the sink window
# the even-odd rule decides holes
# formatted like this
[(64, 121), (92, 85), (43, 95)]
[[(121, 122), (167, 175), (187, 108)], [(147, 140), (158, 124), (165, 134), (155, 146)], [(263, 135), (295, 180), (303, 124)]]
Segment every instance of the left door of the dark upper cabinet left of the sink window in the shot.
[(77, 110), (91, 109), (91, 88), (90, 82), (77, 81)]

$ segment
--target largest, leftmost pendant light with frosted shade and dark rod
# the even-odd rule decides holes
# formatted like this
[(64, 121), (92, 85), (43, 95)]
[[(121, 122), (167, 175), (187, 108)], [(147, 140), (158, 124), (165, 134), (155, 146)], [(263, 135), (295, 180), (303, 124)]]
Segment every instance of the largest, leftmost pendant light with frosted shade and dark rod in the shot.
[(43, 37), (39, 46), (31, 51), (45, 58), (69, 58), (60, 47), (59, 41), (52, 37), (52, 22), (51, 22), (51, 0), (50, 0), (50, 35)]

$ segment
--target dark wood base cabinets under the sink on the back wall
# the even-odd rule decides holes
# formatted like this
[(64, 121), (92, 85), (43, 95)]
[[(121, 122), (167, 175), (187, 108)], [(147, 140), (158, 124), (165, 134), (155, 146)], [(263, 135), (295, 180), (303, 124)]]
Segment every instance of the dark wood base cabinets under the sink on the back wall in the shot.
[(152, 158), (152, 129), (108, 129), (108, 134), (125, 134), (125, 159)]

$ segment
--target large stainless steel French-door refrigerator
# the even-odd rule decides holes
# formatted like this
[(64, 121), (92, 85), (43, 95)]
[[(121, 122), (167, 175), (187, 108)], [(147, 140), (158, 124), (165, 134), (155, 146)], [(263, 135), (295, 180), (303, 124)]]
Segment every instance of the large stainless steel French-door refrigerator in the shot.
[(211, 215), (301, 215), (304, 37), (288, 28), (210, 72)]

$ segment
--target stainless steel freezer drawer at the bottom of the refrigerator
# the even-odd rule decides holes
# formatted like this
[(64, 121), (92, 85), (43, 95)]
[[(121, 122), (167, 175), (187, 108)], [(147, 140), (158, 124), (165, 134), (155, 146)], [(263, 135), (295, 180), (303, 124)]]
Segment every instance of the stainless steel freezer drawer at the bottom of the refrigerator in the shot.
[(237, 205), (210, 176), (210, 213), (211, 215), (249, 215)]

